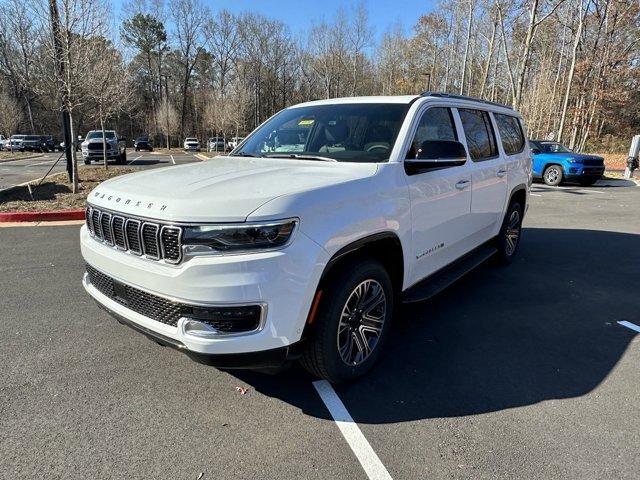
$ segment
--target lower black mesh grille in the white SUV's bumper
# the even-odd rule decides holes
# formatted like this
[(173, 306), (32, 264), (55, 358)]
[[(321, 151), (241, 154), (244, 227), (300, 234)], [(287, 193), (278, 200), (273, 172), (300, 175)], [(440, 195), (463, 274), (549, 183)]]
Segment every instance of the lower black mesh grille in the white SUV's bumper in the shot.
[(207, 323), (220, 333), (252, 332), (260, 327), (262, 307), (200, 306), (169, 300), (114, 280), (87, 264), (89, 282), (109, 299), (140, 315), (175, 327), (182, 317)]

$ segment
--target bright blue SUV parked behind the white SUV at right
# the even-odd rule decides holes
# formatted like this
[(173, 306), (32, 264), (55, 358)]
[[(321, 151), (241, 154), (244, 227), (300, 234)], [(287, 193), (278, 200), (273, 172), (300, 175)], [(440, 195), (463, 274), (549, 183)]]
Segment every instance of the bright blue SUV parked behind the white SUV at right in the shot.
[(561, 143), (548, 140), (529, 140), (533, 155), (533, 177), (551, 186), (574, 181), (589, 186), (596, 183), (605, 171), (604, 158), (576, 153)]

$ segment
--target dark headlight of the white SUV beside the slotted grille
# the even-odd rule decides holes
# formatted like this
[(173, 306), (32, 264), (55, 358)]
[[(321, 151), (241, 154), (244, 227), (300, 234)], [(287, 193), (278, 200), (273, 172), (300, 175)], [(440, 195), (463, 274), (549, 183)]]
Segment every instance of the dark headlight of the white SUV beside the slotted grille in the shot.
[[(298, 221), (293, 219), (269, 223), (239, 223), (234, 225), (201, 225), (185, 227), (182, 243), (202, 252), (251, 252), (281, 248), (291, 239)], [(206, 250), (205, 250), (206, 251)]]

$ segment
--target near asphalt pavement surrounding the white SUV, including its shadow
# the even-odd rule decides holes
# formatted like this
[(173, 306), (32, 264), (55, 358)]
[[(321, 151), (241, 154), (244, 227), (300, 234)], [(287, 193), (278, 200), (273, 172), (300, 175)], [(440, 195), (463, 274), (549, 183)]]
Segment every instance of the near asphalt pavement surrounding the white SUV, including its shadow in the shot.
[[(389, 477), (638, 478), (640, 337), (618, 322), (640, 325), (640, 187), (613, 185), (536, 184), (514, 264), (404, 309), (336, 388)], [(0, 228), (0, 476), (367, 478), (300, 370), (220, 371), (100, 310), (78, 228)]]

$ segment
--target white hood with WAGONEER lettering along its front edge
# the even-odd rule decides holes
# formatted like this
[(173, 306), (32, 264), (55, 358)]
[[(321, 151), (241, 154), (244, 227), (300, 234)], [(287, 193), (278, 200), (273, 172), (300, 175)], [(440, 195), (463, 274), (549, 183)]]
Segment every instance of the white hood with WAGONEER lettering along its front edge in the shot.
[(242, 222), (290, 195), (373, 175), (377, 164), (216, 157), (103, 182), (87, 200), (130, 215), (176, 222)]

